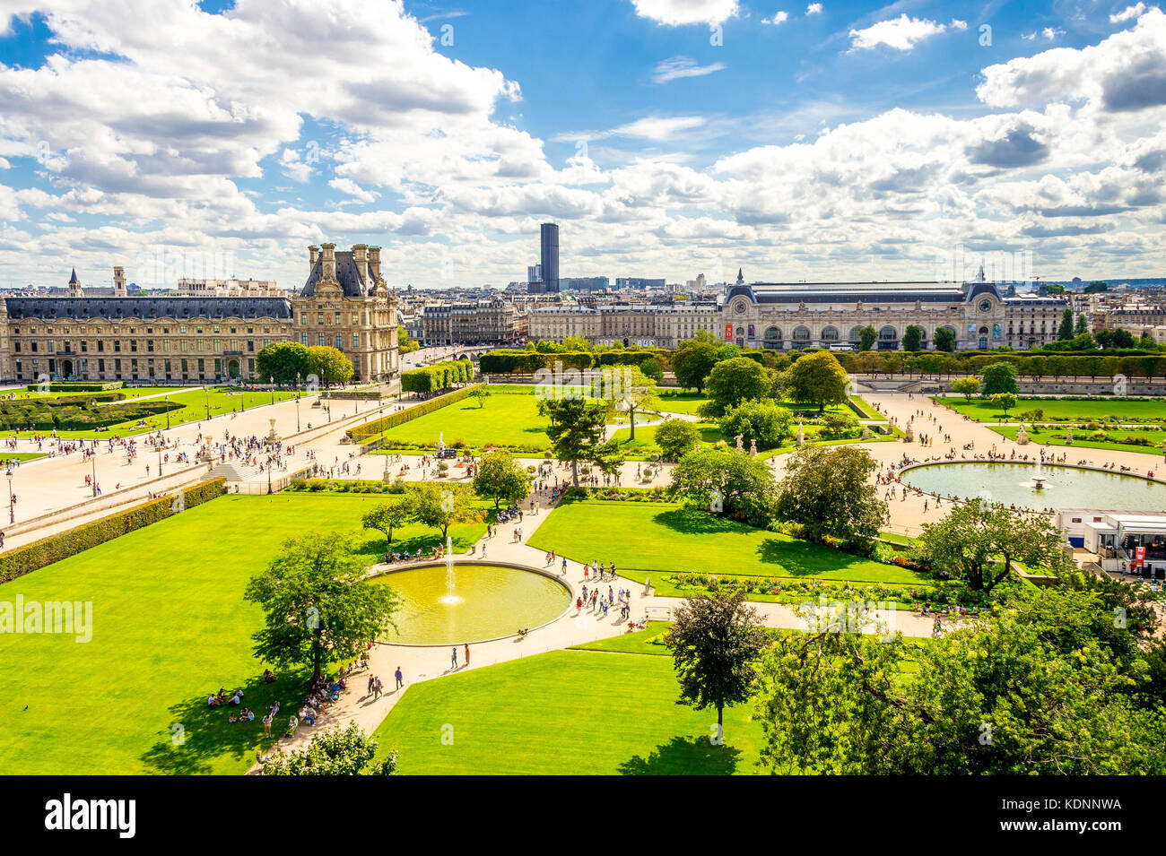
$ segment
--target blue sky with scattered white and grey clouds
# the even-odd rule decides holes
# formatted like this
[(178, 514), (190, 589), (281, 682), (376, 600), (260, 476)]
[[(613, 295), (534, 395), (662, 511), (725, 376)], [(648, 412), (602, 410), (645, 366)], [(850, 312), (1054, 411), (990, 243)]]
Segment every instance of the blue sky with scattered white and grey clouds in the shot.
[(0, 0), (0, 288), (1161, 276), (1164, 178), (1145, 2)]

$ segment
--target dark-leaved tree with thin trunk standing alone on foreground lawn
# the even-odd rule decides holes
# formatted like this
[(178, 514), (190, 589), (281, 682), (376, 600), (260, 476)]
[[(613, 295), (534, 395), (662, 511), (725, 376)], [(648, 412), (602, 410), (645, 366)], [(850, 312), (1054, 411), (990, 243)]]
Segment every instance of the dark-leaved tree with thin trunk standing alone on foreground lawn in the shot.
[(681, 702), (696, 710), (715, 707), (719, 730), (725, 705), (749, 699), (753, 662), (766, 645), (757, 610), (739, 594), (687, 600), (676, 608), (665, 644), (672, 651)]

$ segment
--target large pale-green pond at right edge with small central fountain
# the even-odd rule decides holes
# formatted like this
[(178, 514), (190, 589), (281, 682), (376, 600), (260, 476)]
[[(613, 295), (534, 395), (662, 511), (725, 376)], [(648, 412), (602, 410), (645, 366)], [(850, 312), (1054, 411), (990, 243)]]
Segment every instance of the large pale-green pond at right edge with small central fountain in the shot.
[(1132, 473), (1086, 467), (1013, 461), (920, 464), (907, 467), (900, 480), (925, 493), (982, 496), (1019, 508), (1084, 508), (1107, 511), (1160, 511), (1166, 508), (1166, 484)]

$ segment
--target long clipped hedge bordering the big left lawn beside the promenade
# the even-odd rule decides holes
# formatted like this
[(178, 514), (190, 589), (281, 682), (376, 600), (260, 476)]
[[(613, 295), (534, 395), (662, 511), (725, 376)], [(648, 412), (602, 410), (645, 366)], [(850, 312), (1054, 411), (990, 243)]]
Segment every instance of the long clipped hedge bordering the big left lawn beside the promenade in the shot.
[[(226, 479), (211, 479), (182, 491), (183, 507), (180, 510), (201, 505), (226, 493)], [(83, 523), (73, 529), (50, 535), (31, 544), (13, 547), (0, 553), (0, 582), (15, 580), (27, 573), (68, 559), (98, 544), (113, 540), (127, 532), (143, 529), (152, 523), (164, 521), (178, 514), (175, 496), (163, 496), (134, 505), (125, 511)]]

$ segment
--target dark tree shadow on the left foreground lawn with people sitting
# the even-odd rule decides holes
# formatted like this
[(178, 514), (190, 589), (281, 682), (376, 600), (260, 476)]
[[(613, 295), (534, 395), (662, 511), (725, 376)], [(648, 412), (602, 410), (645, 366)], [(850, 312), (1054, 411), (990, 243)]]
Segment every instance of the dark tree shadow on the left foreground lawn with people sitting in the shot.
[[(286, 733), (288, 719), (300, 709), (307, 695), (308, 675), (308, 672), (289, 672), (281, 674), (274, 684), (265, 684), (259, 674), (246, 682), (226, 686), (227, 692), (243, 687), (243, 705), (239, 707), (206, 707), (206, 696), (217, 692), (217, 686), (208, 687), (197, 698), (171, 705), (170, 734), (142, 754), (142, 764), (155, 773), (195, 776), (215, 772), (215, 762), (229, 757), (239, 762), (236, 772), (244, 772), (254, 761), (257, 749), (262, 747), (266, 752)], [(280, 702), (280, 713), (272, 722), (272, 736), (265, 737), (262, 719), (275, 701)], [(227, 721), (230, 715), (238, 714), (244, 707), (254, 710), (255, 719), (231, 724)], [(316, 728), (324, 724), (326, 717), (316, 721)]]

